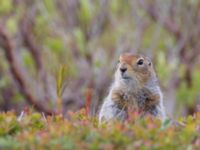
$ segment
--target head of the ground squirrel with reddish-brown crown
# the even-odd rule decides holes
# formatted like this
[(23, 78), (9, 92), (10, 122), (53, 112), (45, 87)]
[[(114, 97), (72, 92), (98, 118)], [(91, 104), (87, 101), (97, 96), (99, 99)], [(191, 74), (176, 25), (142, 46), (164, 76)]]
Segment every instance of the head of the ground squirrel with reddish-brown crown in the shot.
[(152, 79), (156, 79), (153, 64), (148, 57), (124, 53), (119, 57), (116, 80), (123, 83), (133, 83), (144, 86)]

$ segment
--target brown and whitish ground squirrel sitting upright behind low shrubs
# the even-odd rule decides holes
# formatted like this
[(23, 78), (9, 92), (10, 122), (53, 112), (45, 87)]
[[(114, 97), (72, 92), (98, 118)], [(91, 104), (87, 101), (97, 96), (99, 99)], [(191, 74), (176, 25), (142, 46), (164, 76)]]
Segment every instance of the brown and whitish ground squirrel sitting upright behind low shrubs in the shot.
[(125, 120), (128, 108), (165, 120), (163, 95), (153, 64), (148, 57), (125, 53), (120, 55), (108, 96), (99, 113), (99, 122)]

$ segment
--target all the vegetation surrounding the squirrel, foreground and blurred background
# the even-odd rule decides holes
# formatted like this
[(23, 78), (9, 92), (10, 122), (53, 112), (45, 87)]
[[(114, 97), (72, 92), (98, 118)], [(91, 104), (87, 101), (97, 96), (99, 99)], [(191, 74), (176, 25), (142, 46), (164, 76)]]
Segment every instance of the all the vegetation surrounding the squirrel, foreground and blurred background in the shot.
[[(0, 149), (199, 149), (199, 15), (199, 0), (1, 0)], [(176, 123), (98, 125), (127, 51), (153, 60)]]

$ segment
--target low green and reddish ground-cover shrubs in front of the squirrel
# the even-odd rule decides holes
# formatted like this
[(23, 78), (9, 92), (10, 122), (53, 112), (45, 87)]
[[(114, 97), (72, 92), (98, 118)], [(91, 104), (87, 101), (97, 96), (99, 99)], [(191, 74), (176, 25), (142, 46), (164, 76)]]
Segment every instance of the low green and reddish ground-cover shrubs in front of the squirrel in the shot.
[(132, 115), (126, 122), (98, 125), (85, 110), (47, 116), (0, 114), (0, 149), (199, 149), (200, 113), (161, 123)]

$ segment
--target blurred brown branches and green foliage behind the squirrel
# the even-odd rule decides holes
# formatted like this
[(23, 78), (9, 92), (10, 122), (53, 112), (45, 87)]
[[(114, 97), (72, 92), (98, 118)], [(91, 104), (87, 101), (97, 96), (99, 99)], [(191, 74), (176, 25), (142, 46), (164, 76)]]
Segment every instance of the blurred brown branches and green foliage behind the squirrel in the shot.
[(168, 114), (191, 114), (199, 39), (199, 0), (1, 0), (1, 111), (65, 114), (91, 103), (94, 115), (118, 56), (133, 52), (153, 60)]

